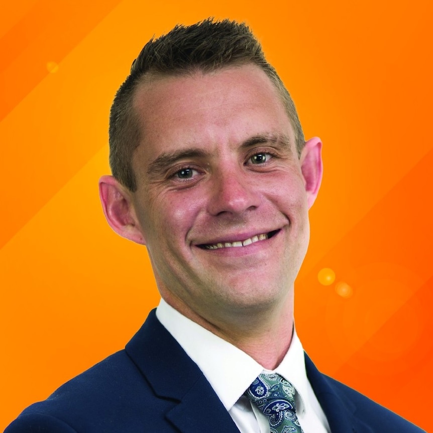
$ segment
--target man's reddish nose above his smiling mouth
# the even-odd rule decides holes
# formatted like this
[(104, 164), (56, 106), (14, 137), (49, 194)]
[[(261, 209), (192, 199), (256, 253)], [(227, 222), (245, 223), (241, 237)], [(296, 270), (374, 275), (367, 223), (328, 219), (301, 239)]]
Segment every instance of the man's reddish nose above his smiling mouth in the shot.
[(212, 215), (236, 214), (254, 209), (260, 204), (260, 195), (252, 179), (242, 170), (224, 170), (211, 184), (208, 211)]

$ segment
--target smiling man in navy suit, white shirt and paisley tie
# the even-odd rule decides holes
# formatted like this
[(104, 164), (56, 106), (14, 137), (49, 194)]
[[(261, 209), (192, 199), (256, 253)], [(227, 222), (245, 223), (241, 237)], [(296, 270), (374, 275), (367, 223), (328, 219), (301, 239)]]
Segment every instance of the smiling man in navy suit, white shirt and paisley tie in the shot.
[(161, 303), (7, 433), (422, 431), (320, 374), (294, 331), (320, 150), (245, 25), (146, 44), (113, 103), (99, 187), (110, 226), (147, 247)]

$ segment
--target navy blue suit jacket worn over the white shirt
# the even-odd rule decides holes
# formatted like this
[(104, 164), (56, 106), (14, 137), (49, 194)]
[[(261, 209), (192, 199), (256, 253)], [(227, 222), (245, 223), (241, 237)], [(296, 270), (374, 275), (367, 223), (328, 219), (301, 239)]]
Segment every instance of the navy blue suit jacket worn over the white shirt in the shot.
[[(317, 371), (308, 379), (332, 433), (423, 430)], [(153, 310), (125, 350), (25, 409), (5, 433), (239, 433), (197, 365)], [(425, 432), (424, 432), (425, 433)]]

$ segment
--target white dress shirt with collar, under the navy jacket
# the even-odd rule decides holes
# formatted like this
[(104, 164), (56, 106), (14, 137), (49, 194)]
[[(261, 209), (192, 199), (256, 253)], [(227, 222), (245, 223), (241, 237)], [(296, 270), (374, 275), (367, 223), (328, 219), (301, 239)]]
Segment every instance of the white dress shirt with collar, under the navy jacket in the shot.
[(270, 371), (163, 299), (156, 316), (203, 372), (241, 433), (270, 432), (268, 417), (243, 395), (260, 373), (278, 373), (295, 387), (296, 415), (304, 433), (330, 433), (326, 416), (307, 379), (304, 351), (295, 331), (281, 364)]

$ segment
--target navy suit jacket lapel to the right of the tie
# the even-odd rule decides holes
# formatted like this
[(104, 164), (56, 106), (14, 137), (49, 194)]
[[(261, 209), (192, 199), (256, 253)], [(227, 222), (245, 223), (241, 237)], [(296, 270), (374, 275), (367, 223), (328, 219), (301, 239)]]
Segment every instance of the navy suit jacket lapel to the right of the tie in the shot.
[(342, 399), (328, 376), (320, 373), (305, 354), (305, 368), (314, 394), (325, 413), (332, 433), (374, 433), (355, 416), (356, 406)]

